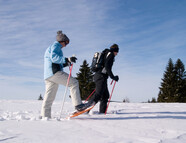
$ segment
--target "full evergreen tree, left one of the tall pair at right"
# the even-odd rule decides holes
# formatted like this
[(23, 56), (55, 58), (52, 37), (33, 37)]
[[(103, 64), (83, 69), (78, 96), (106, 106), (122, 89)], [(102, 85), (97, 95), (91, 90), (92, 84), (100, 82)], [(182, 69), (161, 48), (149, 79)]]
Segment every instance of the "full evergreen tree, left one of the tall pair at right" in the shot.
[(176, 72), (172, 59), (169, 59), (161, 82), (158, 102), (174, 102), (176, 97)]

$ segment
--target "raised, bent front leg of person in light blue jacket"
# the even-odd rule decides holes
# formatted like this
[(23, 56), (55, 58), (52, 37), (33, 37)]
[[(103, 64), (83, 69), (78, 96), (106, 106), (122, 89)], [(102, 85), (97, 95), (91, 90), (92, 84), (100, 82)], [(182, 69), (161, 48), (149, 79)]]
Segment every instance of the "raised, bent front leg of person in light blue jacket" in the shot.
[[(58, 71), (53, 75), (50, 80), (57, 83), (66, 86), (67, 80), (68, 80), (69, 74), (63, 72), (63, 71)], [(70, 88), (70, 94), (71, 94), (71, 99), (72, 99), (72, 104), (74, 106), (82, 104), (81, 97), (80, 97), (80, 92), (79, 92), (79, 83), (78, 81), (70, 77), (69, 80), (69, 88)]]

